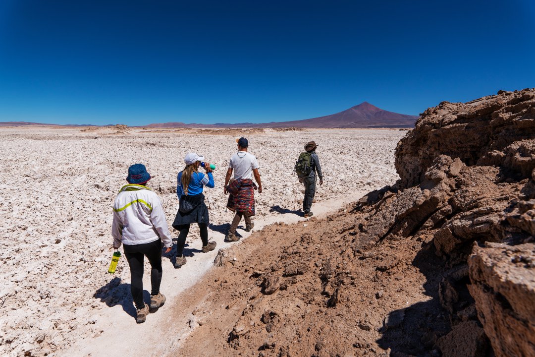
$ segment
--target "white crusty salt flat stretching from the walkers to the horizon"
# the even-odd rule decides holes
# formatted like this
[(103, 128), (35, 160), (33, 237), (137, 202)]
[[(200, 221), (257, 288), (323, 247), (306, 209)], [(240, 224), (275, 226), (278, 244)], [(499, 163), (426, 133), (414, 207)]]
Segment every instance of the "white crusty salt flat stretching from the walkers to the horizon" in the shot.
[[(315, 140), (320, 145), (325, 184), (318, 186), (318, 203), (312, 206), (319, 213), (327, 203), (339, 207), (358, 199), (360, 191), (394, 183), (398, 176), (393, 152), (405, 133), (266, 130), (221, 135), (141, 129), (125, 132), (117, 128), (2, 128), (0, 352), (13, 356), (64, 355), (67, 351), (83, 355), (96, 348), (99, 336), (113, 336), (121, 330), (128, 331), (124, 338), (104, 339), (110, 345), (104, 342), (102, 347), (113, 346), (115, 353), (123, 352), (121, 348), (139, 352), (150, 346), (136, 331), (156, 325), (162, 326), (162, 339), (175, 339), (163, 329), (174, 323), (166, 312), (178, 303), (174, 297), (180, 288), (173, 292), (172, 287), (177, 281), (181, 288), (194, 284), (200, 278), (198, 272), (208, 269), (216, 252), (196, 252), (200, 239), (198, 229), (192, 226), (188, 248), (193, 249), (193, 258), (178, 270), (164, 259), (162, 292), (169, 298), (166, 306), (150, 315), (145, 324), (136, 325), (124, 257), (115, 275), (106, 273), (111, 259), (111, 205), (125, 184), (128, 165), (142, 162), (156, 176), (151, 187), (160, 194), (171, 223), (177, 206), (176, 174), (184, 165), (186, 152), (196, 151), (215, 163), (216, 188), (205, 193), (212, 223), (209, 236), (218, 241), (219, 248), (227, 246), (222, 237), (232, 218), (225, 208), (223, 181), (236, 137), (248, 137), (250, 152), (261, 165), (264, 193), (256, 200), (257, 230), (280, 219), (286, 210), (290, 218), (297, 218), (291, 212), (300, 208), (302, 186), (292, 169), (304, 143)], [(150, 345), (154, 346), (154, 341)]]

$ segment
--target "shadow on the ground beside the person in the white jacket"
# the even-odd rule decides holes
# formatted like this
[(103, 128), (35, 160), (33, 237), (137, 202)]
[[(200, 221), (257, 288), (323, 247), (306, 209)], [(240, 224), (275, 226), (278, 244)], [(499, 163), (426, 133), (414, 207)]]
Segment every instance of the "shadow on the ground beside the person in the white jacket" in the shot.
[[(130, 284), (121, 284), (121, 279), (118, 277), (111, 279), (108, 284), (98, 288), (93, 297), (100, 299), (101, 302), (106, 303), (109, 307), (120, 305), (125, 313), (136, 318)], [(143, 290), (143, 300), (145, 302), (150, 301), (150, 293), (147, 290)]]

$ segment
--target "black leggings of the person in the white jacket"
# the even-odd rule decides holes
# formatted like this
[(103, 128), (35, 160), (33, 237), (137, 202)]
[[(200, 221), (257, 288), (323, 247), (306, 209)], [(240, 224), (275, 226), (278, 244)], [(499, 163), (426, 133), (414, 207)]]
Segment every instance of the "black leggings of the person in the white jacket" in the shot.
[(136, 309), (145, 307), (143, 302), (143, 259), (149, 260), (151, 295), (157, 295), (162, 282), (162, 240), (136, 245), (123, 245), (126, 260), (130, 265), (130, 291)]

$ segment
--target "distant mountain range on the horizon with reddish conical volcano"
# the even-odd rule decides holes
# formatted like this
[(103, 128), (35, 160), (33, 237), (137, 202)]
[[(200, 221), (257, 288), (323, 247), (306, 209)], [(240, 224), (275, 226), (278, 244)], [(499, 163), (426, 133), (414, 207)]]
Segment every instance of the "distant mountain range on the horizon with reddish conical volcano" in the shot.
[[(239, 123), (239, 124), (186, 124), (180, 122), (155, 123), (145, 127), (151, 128), (182, 128), (182, 127), (203, 127), (203, 128), (266, 128), (266, 127), (301, 127), (301, 128), (377, 128), (377, 127), (414, 127), (418, 119), (414, 115), (394, 113), (375, 107), (368, 102), (355, 105), (339, 113), (324, 117), (292, 120), (292, 121), (271, 121), (270, 123)], [(0, 126), (29, 126), (29, 125), (54, 125), (30, 123), (28, 121), (4, 121)], [(63, 125), (63, 126), (88, 126), (88, 125)], [(93, 126), (93, 125), (91, 125)]]

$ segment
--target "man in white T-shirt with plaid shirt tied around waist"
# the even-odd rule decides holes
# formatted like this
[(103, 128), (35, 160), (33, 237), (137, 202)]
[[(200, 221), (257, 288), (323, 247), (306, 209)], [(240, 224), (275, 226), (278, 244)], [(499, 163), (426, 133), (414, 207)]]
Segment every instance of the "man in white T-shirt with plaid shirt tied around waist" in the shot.
[[(258, 189), (258, 193), (262, 193), (258, 161), (247, 151), (249, 141), (246, 138), (240, 138), (236, 142), (238, 142), (238, 153), (234, 154), (228, 163), (223, 189), (225, 194), (230, 193), (227, 208), (235, 212), (231, 227), (225, 236), (226, 242), (240, 240), (240, 237), (236, 237), (236, 228), (242, 217), (245, 219), (245, 231), (250, 232), (253, 229), (255, 224), (251, 221), (251, 217), (255, 215), (254, 190)], [(234, 172), (234, 178), (231, 180), (232, 172)], [(253, 183), (253, 176), (258, 186)]]

